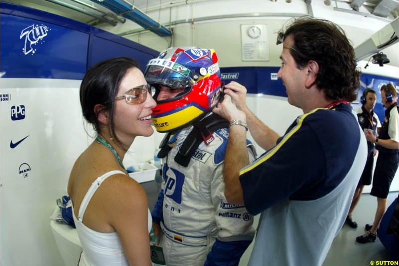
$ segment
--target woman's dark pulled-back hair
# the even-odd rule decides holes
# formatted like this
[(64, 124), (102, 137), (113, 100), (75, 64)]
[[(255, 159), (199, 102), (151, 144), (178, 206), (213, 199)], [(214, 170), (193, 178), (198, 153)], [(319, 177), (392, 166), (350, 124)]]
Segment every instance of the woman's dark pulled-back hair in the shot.
[(97, 133), (100, 133), (100, 123), (97, 119), (98, 114), (94, 112), (94, 106), (101, 104), (100, 112), (109, 112), (111, 136), (117, 141), (119, 140), (114, 131), (114, 98), (123, 77), (131, 68), (139, 68), (139, 63), (132, 58), (107, 59), (92, 66), (80, 85), (80, 105), (84, 118), (93, 125)]

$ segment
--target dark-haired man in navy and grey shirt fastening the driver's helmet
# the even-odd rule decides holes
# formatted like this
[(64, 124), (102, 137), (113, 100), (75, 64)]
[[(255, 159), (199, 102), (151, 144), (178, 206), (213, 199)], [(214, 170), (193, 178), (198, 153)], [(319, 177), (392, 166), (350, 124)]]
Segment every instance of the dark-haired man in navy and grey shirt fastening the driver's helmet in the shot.
[[(213, 110), (230, 121), (224, 194), (252, 215), (262, 213), (249, 266), (320, 266), (366, 163), (366, 139), (349, 105), (357, 98), (360, 72), (344, 31), (330, 21), (294, 19), (278, 43), (277, 76), (288, 102), (304, 114), (280, 137), (248, 109), (244, 86), (226, 85)], [(251, 164), (244, 123), (267, 151)]]

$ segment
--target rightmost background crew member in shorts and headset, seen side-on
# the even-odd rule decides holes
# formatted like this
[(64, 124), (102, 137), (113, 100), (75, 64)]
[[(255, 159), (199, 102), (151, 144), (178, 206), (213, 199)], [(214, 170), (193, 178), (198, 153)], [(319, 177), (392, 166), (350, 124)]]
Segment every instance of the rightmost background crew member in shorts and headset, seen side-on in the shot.
[(377, 210), (373, 224), (366, 224), (364, 235), (356, 238), (359, 243), (376, 240), (377, 230), (387, 206), (391, 182), (398, 169), (399, 115), (397, 92), (392, 84), (383, 85), (380, 91), (381, 102), (386, 108), (380, 134), (377, 137), (373, 132), (366, 132), (366, 139), (376, 144), (378, 150), (373, 186), (370, 192), (370, 195), (377, 197)]

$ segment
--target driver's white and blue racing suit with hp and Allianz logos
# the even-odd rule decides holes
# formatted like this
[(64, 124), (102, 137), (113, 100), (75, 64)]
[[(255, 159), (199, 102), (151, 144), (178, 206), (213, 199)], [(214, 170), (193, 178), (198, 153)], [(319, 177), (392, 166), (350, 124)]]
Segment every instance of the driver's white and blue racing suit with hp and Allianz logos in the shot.
[[(215, 139), (208, 146), (202, 142), (183, 167), (174, 157), (192, 128), (171, 138), (173, 147), (163, 160), (161, 191), (151, 212), (162, 228), (159, 245), (168, 266), (238, 265), (255, 230), (246, 208), (228, 203), (224, 196), (229, 131), (216, 130)], [(247, 143), (252, 162), (255, 149)]]

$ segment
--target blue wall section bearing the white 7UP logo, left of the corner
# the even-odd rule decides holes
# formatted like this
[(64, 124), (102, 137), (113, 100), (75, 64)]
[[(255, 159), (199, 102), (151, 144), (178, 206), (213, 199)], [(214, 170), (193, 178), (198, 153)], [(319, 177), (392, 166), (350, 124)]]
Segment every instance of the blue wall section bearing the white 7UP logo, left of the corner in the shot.
[(82, 79), (89, 35), (1, 14), (1, 72), (6, 78)]

